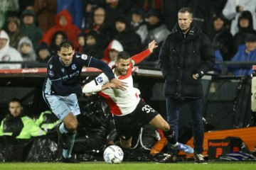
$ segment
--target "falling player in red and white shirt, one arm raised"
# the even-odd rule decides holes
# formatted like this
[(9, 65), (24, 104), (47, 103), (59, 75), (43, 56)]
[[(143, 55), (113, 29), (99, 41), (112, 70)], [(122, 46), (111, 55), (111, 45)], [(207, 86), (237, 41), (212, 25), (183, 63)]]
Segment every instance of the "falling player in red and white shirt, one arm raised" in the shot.
[(85, 84), (82, 93), (91, 94), (97, 92), (107, 100), (110, 112), (114, 115), (114, 123), (120, 139), (119, 145), (122, 148), (131, 147), (132, 135), (136, 133), (139, 124), (149, 123), (164, 132), (164, 136), (173, 149), (180, 149), (183, 152), (192, 154), (193, 149), (176, 141), (174, 131), (171, 130), (166, 120), (151, 106), (147, 105), (142, 98), (139, 98), (140, 91), (133, 86), (132, 67), (134, 64), (144, 60), (156, 47), (158, 47), (156, 41), (153, 40), (149, 43), (149, 48), (138, 55), (130, 57), (124, 51), (117, 54), (117, 61), (112, 70), (116, 79), (127, 83), (125, 91), (115, 89), (114, 84), (110, 83), (106, 75), (102, 73), (95, 80)]

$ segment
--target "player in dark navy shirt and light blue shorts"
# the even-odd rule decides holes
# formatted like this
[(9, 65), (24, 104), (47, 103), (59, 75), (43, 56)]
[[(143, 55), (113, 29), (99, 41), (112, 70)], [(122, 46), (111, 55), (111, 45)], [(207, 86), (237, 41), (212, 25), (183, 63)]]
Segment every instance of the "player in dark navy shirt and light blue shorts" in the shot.
[(82, 67), (101, 69), (107, 78), (114, 84), (107, 84), (105, 88), (119, 88), (125, 90), (126, 84), (114, 78), (110, 67), (94, 57), (75, 52), (73, 42), (63, 40), (58, 47), (58, 54), (48, 61), (47, 76), (43, 84), (43, 98), (53, 111), (62, 120), (57, 126), (58, 143), (63, 148), (62, 161), (76, 163), (71, 157), (75, 142), (75, 131), (78, 128), (76, 115), (80, 114), (76, 94), (82, 93), (80, 74)]

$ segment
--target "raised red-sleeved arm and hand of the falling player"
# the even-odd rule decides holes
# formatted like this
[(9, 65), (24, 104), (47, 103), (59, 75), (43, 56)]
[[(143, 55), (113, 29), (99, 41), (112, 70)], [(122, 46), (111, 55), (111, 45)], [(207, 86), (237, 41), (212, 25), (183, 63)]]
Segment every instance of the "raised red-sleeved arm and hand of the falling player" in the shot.
[(139, 62), (142, 62), (142, 60), (148, 57), (156, 47), (158, 47), (158, 45), (156, 45), (155, 40), (152, 40), (151, 42), (149, 42), (148, 49), (131, 57), (132, 66), (134, 66), (135, 64), (138, 64)]

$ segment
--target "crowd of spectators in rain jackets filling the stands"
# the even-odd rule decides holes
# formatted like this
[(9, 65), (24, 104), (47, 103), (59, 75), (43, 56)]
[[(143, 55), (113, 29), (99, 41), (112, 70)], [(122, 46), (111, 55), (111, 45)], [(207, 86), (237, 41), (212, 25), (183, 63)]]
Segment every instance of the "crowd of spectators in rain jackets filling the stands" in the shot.
[[(177, 23), (178, 9), (185, 6), (192, 9), (194, 23), (213, 42), (216, 61), (255, 61), (248, 56), (255, 55), (256, 47), (243, 57), (237, 53), (248, 35), (256, 35), (256, 0), (3, 0), (0, 61), (45, 63), (60, 41), (68, 38), (79, 52), (111, 62), (107, 51), (125, 50), (134, 55), (156, 40), (159, 47), (146, 62), (158, 67), (161, 44)], [(110, 49), (114, 44), (119, 48)], [(0, 69), (21, 67), (0, 64)], [(228, 69), (230, 73), (234, 69)]]

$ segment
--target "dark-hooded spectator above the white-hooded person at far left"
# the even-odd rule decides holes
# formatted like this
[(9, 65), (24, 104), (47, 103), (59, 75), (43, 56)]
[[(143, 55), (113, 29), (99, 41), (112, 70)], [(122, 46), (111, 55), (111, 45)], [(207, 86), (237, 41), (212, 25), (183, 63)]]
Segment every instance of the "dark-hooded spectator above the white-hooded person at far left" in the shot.
[(6, 23), (6, 33), (8, 33), (10, 38), (10, 47), (14, 47), (18, 50), (18, 42), (23, 38), (23, 34), (21, 33), (21, 21), (16, 16), (10, 16), (7, 19)]

